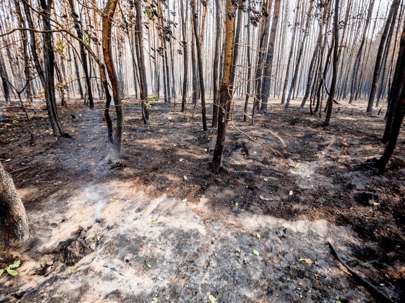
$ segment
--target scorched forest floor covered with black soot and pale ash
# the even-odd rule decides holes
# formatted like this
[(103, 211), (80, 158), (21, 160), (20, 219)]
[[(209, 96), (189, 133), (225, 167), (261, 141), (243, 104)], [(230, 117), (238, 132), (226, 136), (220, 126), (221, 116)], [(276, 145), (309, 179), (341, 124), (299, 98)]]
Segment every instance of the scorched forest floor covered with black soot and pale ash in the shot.
[(384, 174), (357, 166), (384, 150), (384, 111), (367, 115), (364, 100), (334, 105), (323, 128), (325, 113), (297, 110), (300, 100), (285, 112), (274, 100), (252, 126), (238, 100), (235, 126), (285, 160), (230, 124), (215, 175), (216, 132), (201, 131), (199, 112), (192, 119), (156, 102), (144, 125), (139, 104), (126, 103), (126, 167), (109, 170), (103, 102), (93, 111), (82, 102), (59, 110), (70, 139), (52, 136), (45, 109), (34, 117), (33, 145), (22, 115), (0, 123), (0, 158), (31, 236), (0, 254), (0, 268), (21, 260), (17, 276), (0, 278), (0, 301), (376, 301), (327, 241), (405, 300), (405, 131)]

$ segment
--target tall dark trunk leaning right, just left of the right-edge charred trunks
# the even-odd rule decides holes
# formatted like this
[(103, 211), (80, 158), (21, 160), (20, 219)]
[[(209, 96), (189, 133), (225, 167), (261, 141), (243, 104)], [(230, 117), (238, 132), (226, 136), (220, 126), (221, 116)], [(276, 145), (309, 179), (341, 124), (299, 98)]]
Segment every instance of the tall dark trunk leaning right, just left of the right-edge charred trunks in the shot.
[(374, 67), (374, 73), (373, 73), (373, 82), (371, 84), (371, 90), (370, 90), (370, 96), (369, 96), (369, 104), (367, 106), (367, 113), (371, 113), (373, 111), (374, 97), (375, 97), (376, 90), (377, 90), (378, 80), (380, 78), (380, 67), (381, 67), (381, 60), (382, 60), (382, 55), (383, 55), (384, 44), (387, 39), (387, 34), (388, 34), (388, 30), (389, 30), (389, 27), (391, 24), (391, 19), (392, 18), (396, 19), (396, 15), (398, 13), (398, 8), (399, 8), (399, 1), (393, 0), (392, 4), (391, 4), (391, 8), (388, 13), (388, 18), (385, 22), (383, 33), (381, 35), (380, 45), (378, 46), (376, 65)]

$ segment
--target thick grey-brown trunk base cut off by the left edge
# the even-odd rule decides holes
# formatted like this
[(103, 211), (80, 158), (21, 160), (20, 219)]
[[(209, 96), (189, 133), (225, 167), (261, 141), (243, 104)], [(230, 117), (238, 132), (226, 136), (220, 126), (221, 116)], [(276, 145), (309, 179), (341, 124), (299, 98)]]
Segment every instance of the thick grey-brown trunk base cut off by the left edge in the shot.
[(0, 250), (22, 245), (29, 238), (28, 219), (13, 179), (0, 164)]

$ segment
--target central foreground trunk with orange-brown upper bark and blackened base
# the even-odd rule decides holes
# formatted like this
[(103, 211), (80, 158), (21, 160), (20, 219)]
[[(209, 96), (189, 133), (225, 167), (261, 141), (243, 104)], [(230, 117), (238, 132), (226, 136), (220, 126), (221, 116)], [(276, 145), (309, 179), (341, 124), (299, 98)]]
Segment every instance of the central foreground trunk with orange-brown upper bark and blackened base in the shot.
[(218, 173), (222, 168), (222, 154), (224, 152), (225, 137), (226, 137), (226, 127), (228, 121), (226, 120), (226, 108), (227, 104), (230, 102), (229, 95), (229, 76), (231, 72), (231, 62), (232, 53), (234, 45), (234, 32), (235, 32), (235, 6), (232, 0), (226, 0), (225, 7), (225, 23), (226, 23), (226, 33), (225, 33), (225, 56), (224, 56), (224, 71), (221, 80), (221, 93), (219, 99), (219, 113), (218, 113), (218, 132), (217, 132), (217, 142), (215, 144), (214, 156), (212, 159), (213, 171)]

